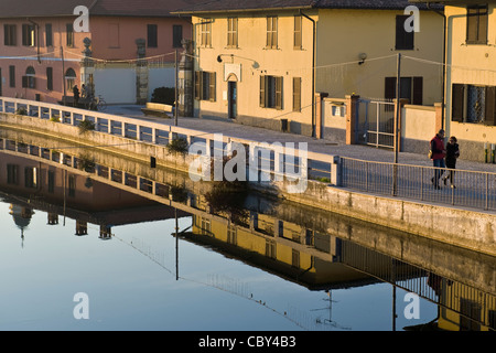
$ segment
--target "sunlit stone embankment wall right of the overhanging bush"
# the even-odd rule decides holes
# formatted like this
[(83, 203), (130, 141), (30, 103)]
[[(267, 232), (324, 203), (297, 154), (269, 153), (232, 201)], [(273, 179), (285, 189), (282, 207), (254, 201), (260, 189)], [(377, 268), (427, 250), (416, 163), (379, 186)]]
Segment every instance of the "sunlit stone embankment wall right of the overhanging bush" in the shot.
[(376, 196), (313, 181), (309, 181), (305, 193), (283, 196), (311, 207), (496, 256), (496, 216), (492, 213)]

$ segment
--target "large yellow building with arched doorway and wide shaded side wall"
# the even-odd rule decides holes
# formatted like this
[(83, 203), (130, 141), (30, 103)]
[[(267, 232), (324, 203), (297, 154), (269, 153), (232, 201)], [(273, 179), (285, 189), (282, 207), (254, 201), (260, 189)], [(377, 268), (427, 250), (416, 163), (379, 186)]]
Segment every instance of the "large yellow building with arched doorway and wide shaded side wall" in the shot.
[(193, 21), (195, 116), (321, 137), (324, 96), (396, 97), (399, 53), (401, 97), (440, 103), (442, 69), (416, 60), (442, 62), (443, 18), (409, 6), (219, 0), (176, 12)]

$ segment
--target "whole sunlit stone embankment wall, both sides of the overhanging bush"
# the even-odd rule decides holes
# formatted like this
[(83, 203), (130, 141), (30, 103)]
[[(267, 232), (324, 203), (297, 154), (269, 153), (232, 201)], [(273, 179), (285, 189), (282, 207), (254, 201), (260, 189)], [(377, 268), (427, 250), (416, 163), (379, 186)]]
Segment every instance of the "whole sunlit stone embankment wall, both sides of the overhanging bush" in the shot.
[[(40, 120), (12, 114), (0, 114), (0, 127), (43, 133), (83, 145), (97, 146), (99, 150), (126, 154), (141, 161), (150, 156), (163, 167), (188, 172), (193, 156), (169, 153), (164, 146), (143, 143), (129, 138), (87, 131), (58, 122)], [(371, 222), (442, 243), (496, 256), (496, 217), (489, 212), (446, 207), (392, 197), (358, 193), (322, 182), (308, 182), (304, 193), (288, 193), (288, 183), (271, 185), (251, 183), (254, 189), (295, 203), (326, 210), (354, 218)]]

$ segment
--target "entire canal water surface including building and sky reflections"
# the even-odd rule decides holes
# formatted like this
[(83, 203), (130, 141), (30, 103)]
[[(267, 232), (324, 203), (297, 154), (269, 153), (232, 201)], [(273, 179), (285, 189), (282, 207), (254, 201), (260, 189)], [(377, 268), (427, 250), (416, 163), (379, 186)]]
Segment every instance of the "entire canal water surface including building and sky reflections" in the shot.
[(0, 330), (495, 328), (492, 257), (25, 141), (0, 151)]

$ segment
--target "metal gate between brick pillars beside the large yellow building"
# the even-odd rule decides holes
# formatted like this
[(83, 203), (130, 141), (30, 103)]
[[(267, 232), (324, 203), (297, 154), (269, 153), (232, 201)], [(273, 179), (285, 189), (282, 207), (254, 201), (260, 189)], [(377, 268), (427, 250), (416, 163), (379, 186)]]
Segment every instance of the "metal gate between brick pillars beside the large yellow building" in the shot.
[(359, 98), (356, 141), (375, 147), (395, 147), (395, 103), (386, 99)]

